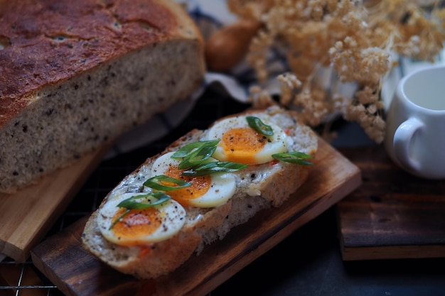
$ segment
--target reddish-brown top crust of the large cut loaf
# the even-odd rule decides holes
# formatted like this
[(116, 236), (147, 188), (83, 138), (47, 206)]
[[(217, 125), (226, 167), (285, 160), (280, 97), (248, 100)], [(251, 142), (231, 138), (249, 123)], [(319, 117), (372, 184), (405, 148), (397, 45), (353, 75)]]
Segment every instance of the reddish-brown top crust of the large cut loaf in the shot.
[(200, 36), (181, 9), (160, 0), (1, 2), (0, 127), (42, 87), (150, 44)]

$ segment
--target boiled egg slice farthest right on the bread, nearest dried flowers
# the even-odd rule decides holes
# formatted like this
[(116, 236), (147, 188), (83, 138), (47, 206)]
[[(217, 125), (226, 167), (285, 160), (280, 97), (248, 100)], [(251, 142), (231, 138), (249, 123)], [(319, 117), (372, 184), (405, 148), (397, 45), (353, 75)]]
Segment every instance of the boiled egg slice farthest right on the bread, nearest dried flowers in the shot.
[(232, 161), (255, 165), (267, 163), (274, 153), (288, 152), (288, 137), (277, 126), (260, 118), (273, 130), (272, 136), (258, 133), (247, 123), (246, 116), (235, 116), (216, 122), (210, 127), (206, 140), (220, 139), (213, 157), (221, 161)]

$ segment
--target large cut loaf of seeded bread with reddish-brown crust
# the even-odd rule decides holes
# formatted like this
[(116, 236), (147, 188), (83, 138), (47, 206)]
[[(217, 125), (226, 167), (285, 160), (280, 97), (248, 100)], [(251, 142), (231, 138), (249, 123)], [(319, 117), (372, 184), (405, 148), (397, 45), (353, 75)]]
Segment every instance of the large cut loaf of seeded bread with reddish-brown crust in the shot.
[(188, 98), (203, 40), (171, 0), (0, 1), (0, 192)]

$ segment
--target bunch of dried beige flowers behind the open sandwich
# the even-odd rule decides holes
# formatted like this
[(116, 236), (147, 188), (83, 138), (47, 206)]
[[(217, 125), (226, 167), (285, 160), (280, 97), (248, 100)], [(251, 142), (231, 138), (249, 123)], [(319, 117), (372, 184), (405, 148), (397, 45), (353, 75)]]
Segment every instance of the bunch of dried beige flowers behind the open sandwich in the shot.
[[(357, 121), (372, 140), (385, 136), (380, 90), (397, 65), (393, 56), (434, 60), (445, 40), (444, 1), (421, 6), (414, 0), (228, 0), (240, 18), (263, 23), (250, 44), (247, 61), (259, 83), (276, 73), (267, 67), (272, 50), (284, 53), (289, 73), (282, 82), (279, 103), (301, 112), (316, 126), (332, 114)], [(329, 87), (316, 80), (320, 70), (334, 76)], [(273, 77), (272, 77), (273, 78)], [(345, 95), (341, 84), (354, 84)], [(259, 88), (255, 104), (273, 104)]]

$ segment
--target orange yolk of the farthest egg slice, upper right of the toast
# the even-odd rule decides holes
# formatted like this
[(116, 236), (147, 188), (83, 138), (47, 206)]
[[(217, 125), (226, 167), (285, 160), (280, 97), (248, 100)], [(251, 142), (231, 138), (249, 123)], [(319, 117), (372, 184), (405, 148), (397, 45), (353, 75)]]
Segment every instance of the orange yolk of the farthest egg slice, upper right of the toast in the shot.
[(266, 144), (267, 137), (252, 128), (231, 128), (223, 134), (220, 146), (228, 161), (254, 164), (255, 154)]

